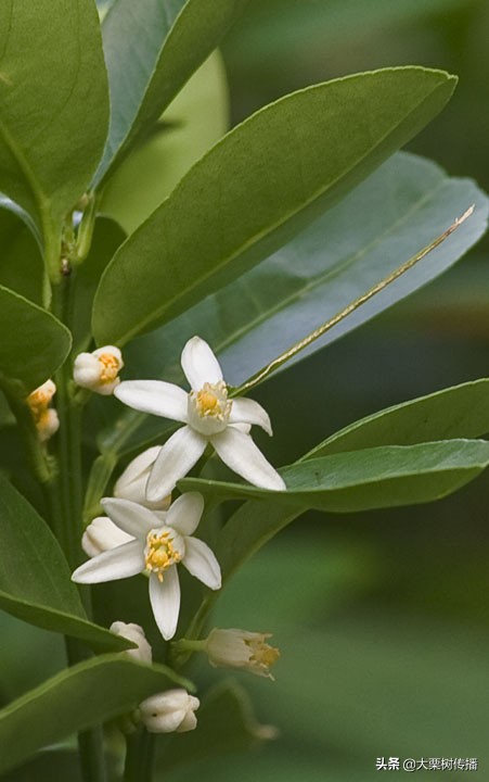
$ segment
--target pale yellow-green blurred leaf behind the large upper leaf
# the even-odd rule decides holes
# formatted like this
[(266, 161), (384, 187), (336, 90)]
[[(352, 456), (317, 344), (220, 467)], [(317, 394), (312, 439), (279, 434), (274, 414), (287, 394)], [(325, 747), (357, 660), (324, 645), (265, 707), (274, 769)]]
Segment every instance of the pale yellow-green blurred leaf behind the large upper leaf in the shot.
[(144, 143), (111, 176), (100, 211), (132, 234), (229, 127), (228, 84), (215, 51), (165, 111)]

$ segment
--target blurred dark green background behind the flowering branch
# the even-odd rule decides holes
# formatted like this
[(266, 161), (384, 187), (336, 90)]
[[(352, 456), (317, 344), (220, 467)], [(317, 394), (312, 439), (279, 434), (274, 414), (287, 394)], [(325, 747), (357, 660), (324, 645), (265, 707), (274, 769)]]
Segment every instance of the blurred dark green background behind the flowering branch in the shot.
[[(488, 50), (487, 0), (250, 0), (222, 48), (232, 123), (314, 81), (388, 65), (446, 68), (460, 76), (455, 96), (410, 150), (488, 190)], [(261, 387), (271, 462), (389, 404), (486, 376), (488, 251), (486, 238), (442, 279)], [(163, 745), (164, 766), (169, 756), (175, 766), (162, 782), (368, 782), (388, 773), (375, 770), (377, 757), (475, 757), (475, 778), (489, 779), (488, 501), (482, 476), (437, 504), (310, 514), (272, 541), (222, 594), (215, 623), (274, 634), (276, 681), (237, 680), (278, 737), (260, 741), (252, 721), (241, 744), (208, 742), (189, 765), (177, 736), (169, 755)], [(56, 670), (63, 653), (56, 636), (2, 622), (8, 701)], [(210, 686), (221, 672), (202, 665), (196, 676)]]

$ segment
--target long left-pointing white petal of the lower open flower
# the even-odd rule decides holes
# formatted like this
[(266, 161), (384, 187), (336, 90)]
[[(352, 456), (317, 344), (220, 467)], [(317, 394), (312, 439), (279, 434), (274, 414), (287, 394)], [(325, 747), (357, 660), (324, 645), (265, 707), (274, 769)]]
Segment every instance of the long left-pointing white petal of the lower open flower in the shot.
[(76, 581), (76, 583), (117, 581), (117, 579), (129, 578), (142, 572), (144, 566), (141, 541), (130, 541), (80, 565), (73, 573), (72, 581)]

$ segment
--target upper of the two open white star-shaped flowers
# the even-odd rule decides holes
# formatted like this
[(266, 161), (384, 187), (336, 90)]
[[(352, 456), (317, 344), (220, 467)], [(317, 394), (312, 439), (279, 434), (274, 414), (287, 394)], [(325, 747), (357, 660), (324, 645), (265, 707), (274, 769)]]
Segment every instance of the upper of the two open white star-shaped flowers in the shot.
[(162, 380), (126, 380), (114, 391), (129, 407), (185, 425), (162, 447), (147, 481), (147, 500), (155, 502), (169, 494), (208, 442), (222, 462), (245, 480), (263, 489), (284, 490), (280, 475), (243, 431), (243, 425), (257, 424), (271, 434), (267, 412), (253, 400), (228, 399), (219, 363), (200, 337), (185, 344), (181, 364), (190, 393)]

